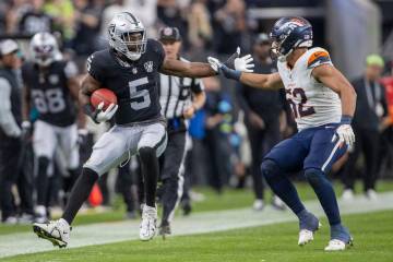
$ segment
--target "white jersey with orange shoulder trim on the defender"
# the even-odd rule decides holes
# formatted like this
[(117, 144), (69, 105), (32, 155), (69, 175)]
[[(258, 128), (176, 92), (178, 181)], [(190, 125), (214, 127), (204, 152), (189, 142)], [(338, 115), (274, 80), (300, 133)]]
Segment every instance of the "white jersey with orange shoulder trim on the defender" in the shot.
[(332, 61), (329, 52), (319, 47), (305, 52), (291, 70), (286, 61), (277, 62), (286, 98), (299, 131), (341, 121), (342, 107), (338, 95), (311, 74), (312, 70), (321, 64), (332, 64)]

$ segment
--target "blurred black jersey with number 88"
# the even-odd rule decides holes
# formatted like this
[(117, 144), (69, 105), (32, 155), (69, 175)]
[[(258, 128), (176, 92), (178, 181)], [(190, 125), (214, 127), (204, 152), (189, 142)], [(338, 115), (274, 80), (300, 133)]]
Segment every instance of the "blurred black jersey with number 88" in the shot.
[(45, 71), (34, 62), (22, 67), (22, 78), (38, 119), (58, 127), (68, 127), (76, 120), (76, 104), (68, 87), (70, 78), (78, 73), (70, 61), (55, 61)]

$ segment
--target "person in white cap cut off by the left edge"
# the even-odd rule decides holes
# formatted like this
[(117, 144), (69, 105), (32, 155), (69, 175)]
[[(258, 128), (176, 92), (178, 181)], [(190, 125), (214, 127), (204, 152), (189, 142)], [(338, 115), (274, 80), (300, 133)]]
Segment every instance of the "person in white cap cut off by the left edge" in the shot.
[(20, 64), (17, 44), (7, 39), (0, 44), (0, 205), (1, 222), (16, 224), (16, 210), (11, 188), (20, 172), (21, 155), (21, 85), (15, 74)]

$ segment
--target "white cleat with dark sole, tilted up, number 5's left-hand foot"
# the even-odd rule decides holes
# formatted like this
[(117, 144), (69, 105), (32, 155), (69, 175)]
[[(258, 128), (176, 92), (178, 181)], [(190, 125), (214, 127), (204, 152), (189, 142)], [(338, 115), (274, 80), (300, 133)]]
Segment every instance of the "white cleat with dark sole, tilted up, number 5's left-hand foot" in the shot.
[(66, 248), (70, 240), (71, 227), (62, 218), (48, 223), (34, 223), (33, 230), (39, 238), (47, 239), (59, 248)]

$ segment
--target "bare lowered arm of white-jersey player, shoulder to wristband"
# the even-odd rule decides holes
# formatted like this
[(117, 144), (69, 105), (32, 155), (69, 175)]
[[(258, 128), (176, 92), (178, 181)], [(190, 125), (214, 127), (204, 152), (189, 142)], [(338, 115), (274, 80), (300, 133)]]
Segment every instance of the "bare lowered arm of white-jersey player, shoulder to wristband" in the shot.
[(319, 66), (312, 70), (312, 76), (340, 95), (343, 116), (354, 116), (356, 92), (349, 81), (336, 68), (331, 64)]

